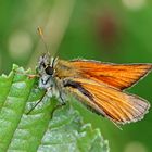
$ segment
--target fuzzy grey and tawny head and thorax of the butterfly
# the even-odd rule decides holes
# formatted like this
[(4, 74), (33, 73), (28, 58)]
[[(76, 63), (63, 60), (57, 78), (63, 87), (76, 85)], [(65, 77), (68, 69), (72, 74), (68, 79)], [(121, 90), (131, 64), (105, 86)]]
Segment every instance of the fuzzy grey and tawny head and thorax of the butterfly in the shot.
[(37, 73), (40, 77), (39, 88), (46, 89), (49, 97), (56, 98), (63, 93), (64, 79), (76, 75), (68, 61), (50, 58), (48, 54), (40, 56)]

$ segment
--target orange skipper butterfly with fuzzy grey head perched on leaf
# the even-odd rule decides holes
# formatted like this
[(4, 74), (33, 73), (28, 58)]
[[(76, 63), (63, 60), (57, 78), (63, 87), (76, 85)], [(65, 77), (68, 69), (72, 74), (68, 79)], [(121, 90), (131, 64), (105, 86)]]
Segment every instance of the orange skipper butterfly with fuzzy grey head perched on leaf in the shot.
[(37, 65), (39, 88), (48, 97), (55, 96), (61, 104), (67, 94), (114, 124), (127, 124), (143, 118), (150, 109), (144, 99), (125, 92), (152, 69), (152, 64), (113, 64), (92, 60), (65, 61), (40, 56)]

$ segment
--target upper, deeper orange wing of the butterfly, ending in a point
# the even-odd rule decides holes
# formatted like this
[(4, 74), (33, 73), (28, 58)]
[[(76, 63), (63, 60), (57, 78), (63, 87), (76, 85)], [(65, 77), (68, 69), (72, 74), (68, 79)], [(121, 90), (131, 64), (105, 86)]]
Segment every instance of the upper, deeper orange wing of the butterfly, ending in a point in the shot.
[(107, 64), (87, 60), (75, 60), (71, 64), (83, 77), (105, 83), (119, 90), (132, 86), (152, 69), (152, 64)]

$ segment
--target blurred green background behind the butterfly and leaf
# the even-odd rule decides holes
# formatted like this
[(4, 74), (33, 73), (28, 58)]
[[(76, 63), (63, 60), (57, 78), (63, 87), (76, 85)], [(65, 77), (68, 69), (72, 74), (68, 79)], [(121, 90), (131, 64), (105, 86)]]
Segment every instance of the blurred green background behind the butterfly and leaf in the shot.
[[(152, 62), (151, 0), (1, 0), (0, 71), (12, 64), (35, 69), (45, 46), (61, 59), (93, 59), (114, 63)], [(152, 101), (152, 74), (129, 89)], [(100, 128), (111, 152), (152, 152), (152, 111), (141, 122), (123, 126), (92, 114), (74, 102), (85, 122)], [(84, 112), (85, 111), (85, 112)]]

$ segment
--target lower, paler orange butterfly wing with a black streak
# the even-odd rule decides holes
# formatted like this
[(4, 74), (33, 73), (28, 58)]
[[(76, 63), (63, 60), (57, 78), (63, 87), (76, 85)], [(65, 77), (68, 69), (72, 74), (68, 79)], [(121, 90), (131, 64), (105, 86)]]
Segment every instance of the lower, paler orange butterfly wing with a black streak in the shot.
[(66, 79), (64, 88), (89, 107), (119, 124), (141, 119), (150, 107), (142, 98), (90, 79)]

